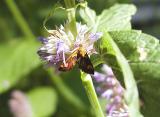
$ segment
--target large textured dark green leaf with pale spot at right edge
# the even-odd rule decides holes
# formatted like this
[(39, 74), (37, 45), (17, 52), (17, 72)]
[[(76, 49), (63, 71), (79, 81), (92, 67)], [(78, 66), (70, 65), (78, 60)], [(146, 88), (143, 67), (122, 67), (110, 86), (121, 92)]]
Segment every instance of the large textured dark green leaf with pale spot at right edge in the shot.
[[(158, 117), (160, 112), (160, 44), (159, 40), (141, 31), (110, 33), (127, 58), (137, 80), (145, 117)], [(156, 91), (155, 91), (156, 89)]]

